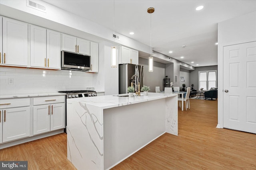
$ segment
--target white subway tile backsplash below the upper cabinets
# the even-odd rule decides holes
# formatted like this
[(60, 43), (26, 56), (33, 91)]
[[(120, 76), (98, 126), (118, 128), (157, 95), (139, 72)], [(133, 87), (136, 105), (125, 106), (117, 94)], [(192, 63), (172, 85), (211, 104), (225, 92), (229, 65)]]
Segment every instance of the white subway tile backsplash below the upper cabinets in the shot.
[[(0, 67), (0, 96), (86, 90), (94, 87), (94, 74), (71, 70), (40, 70)], [(8, 78), (14, 84), (8, 84)]]

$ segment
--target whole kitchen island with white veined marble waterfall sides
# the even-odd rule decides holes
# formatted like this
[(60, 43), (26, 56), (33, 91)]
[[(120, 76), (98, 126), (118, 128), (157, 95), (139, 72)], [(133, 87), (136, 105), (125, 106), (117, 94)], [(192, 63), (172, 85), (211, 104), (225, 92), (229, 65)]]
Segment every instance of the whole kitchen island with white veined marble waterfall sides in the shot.
[(78, 170), (110, 169), (164, 133), (178, 135), (177, 94), (67, 99), (68, 159)]

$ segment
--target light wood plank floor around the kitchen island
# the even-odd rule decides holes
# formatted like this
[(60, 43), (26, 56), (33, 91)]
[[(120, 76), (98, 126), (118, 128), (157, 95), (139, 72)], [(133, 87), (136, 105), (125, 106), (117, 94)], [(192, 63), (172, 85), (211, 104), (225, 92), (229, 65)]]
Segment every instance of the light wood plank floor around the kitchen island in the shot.
[[(217, 101), (190, 99), (178, 111), (178, 136), (164, 134), (113, 170), (256, 169), (256, 135), (218, 129)], [(72, 170), (66, 134), (0, 150), (0, 160), (28, 160), (29, 170)]]

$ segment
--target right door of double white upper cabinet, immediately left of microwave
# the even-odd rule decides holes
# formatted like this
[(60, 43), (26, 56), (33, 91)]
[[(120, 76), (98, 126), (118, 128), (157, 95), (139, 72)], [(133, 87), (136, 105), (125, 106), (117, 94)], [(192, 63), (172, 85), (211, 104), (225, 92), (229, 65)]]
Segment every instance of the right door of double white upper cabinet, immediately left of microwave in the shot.
[(46, 30), (47, 66), (51, 69), (60, 69), (60, 32)]

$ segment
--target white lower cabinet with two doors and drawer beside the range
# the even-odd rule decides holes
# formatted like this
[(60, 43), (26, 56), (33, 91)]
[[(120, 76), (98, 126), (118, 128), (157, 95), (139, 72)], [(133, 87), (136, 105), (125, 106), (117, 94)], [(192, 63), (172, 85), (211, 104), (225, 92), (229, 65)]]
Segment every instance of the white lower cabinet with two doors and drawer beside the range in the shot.
[(33, 135), (65, 128), (64, 101), (65, 96), (34, 98)]

